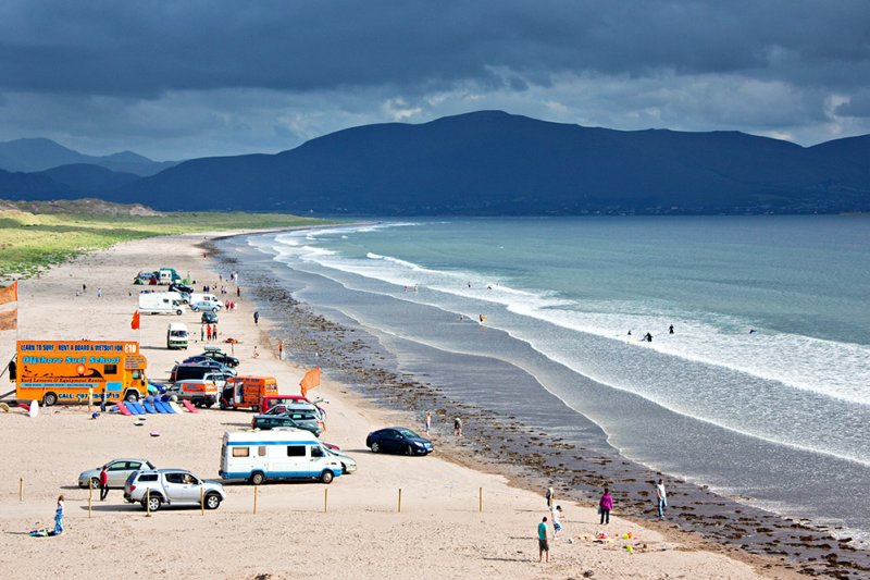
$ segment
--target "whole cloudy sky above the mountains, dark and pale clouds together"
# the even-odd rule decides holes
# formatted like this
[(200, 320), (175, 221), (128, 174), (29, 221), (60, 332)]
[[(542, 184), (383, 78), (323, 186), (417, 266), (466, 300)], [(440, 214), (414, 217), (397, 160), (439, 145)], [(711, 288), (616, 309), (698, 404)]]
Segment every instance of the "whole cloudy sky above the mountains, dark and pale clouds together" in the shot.
[(0, 140), (181, 160), (492, 109), (804, 146), (868, 134), (870, 2), (0, 2)]

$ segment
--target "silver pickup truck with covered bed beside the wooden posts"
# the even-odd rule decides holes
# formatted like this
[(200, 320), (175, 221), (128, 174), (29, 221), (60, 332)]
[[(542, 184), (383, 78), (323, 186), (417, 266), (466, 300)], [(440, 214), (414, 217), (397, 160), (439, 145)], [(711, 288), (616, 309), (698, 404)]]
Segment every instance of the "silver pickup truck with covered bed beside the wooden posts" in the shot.
[(199, 505), (217, 509), (226, 499), (224, 486), (204, 481), (184, 469), (144, 469), (134, 471), (124, 483), (124, 501), (140, 503), (144, 509), (157, 511), (166, 505)]

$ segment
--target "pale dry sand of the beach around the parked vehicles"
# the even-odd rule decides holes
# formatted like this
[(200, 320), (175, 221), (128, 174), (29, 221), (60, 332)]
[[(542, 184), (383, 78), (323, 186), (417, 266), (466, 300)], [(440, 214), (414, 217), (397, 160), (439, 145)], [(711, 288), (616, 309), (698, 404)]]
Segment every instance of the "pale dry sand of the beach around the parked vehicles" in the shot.
[[(225, 233), (224, 233), (225, 235)], [(138, 340), (148, 357), (148, 374), (166, 380), (176, 360), (199, 353), (199, 314), (142, 316), (130, 330), (141, 286), (136, 272), (172, 266), (188, 272), (197, 286), (217, 282), (196, 244), (202, 235), (162, 237), (116, 246), (52, 269), (20, 286), (22, 340)], [(244, 283), (244, 281), (243, 281)], [(87, 284), (87, 293), (80, 294)], [(102, 296), (97, 298), (97, 288)], [(222, 312), (221, 337), (237, 338), (241, 373), (271, 374), (282, 393), (298, 393), (304, 369), (277, 358), (269, 321), (254, 326), (253, 305), (243, 286), (238, 308)], [(233, 295), (235, 299), (235, 295)], [(195, 334), (187, 351), (166, 350), (169, 322), (186, 322)], [(0, 360), (14, 353), (14, 332), (0, 333)], [(252, 358), (258, 345), (260, 358)], [(328, 399), (327, 431), (322, 439), (339, 445), (359, 465), (356, 473), (333, 484), (279, 483), (259, 488), (257, 514), (248, 484), (227, 485), (217, 510), (164, 507), (145, 517), (139, 505), (125, 504), (112, 491), (95, 501), (88, 515), (88, 490), (76, 478), (115, 457), (145, 457), (158, 467), (187, 468), (216, 478), (221, 437), (250, 424), (249, 411), (148, 416), (146, 427), (132, 418), (105, 414), (91, 420), (84, 407), (55, 406), (36, 418), (22, 410), (0, 414), (3, 452), (0, 464), (0, 575), (3, 578), (756, 578), (754, 569), (726, 555), (693, 547), (696, 539), (667, 539), (659, 532), (611, 518), (611, 536), (631, 532), (631, 541), (589, 540), (598, 526), (594, 508), (562, 503), (564, 530), (552, 543), (549, 564), (538, 563), (536, 526), (548, 511), (543, 494), (513, 488), (499, 476), (483, 473), (439, 457), (439, 440), (451, 437), (436, 424), (436, 452), (427, 457), (375, 455), (365, 434), (387, 424), (410, 424), (328, 381), (312, 394)], [(9, 385), (5, 378), (2, 384)], [(11, 385), (9, 386), (11, 388)], [(8, 387), (0, 388), (5, 392)], [(412, 428), (419, 425), (410, 424)], [(159, 437), (149, 436), (160, 432)], [(18, 499), (20, 479), (24, 499)], [(328, 505), (324, 511), (324, 491)], [(398, 494), (401, 490), (401, 511)], [(483, 511), (480, 511), (483, 490)], [(51, 527), (54, 501), (66, 496), (66, 533), (30, 538)], [(569, 543), (569, 538), (573, 543)], [(633, 546), (629, 553), (626, 545)], [(782, 570), (762, 570), (782, 577)], [(787, 573), (787, 572), (786, 572)], [(262, 575), (262, 576), (260, 576)]]

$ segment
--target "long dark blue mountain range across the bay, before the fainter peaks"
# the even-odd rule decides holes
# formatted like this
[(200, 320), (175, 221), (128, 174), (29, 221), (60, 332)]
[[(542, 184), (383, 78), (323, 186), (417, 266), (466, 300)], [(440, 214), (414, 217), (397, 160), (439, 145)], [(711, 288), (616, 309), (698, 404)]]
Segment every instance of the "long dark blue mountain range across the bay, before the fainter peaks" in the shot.
[(738, 132), (614, 131), (480, 111), (353, 127), (276, 155), (194, 159), (147, 176), (84, 165), (0, 172), (0, 196), (50, 195), (160, 210), (371, 215), (870, 211), (870, 136), (801, 147)]

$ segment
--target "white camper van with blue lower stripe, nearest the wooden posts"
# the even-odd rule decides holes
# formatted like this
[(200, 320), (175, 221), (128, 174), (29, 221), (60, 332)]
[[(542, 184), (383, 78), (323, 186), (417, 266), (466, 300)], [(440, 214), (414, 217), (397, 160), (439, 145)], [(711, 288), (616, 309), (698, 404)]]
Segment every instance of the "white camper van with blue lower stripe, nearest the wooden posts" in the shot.
[(220, 474), (225, 480), (247, 479), (254, 485), (266, 479), (319, 479), (332, 483), (341, 472), (341, 461), (308, 431), (224, 433)]

